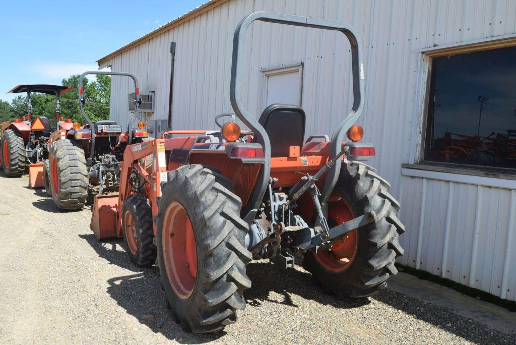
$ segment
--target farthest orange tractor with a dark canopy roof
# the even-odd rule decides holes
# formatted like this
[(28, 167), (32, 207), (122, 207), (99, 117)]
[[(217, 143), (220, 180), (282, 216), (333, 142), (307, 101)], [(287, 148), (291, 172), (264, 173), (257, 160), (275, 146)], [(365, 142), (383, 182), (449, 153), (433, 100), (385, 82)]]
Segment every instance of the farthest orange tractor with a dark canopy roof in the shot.
[(5, 175), (20, 177), (25, 172), (25, 165), (29, 164), (29, 186), (43, 187), (42, 170), (43, 160), (49, 155), (49, 136), (52, 124), (49, 118), (39, 116), (33, 121), (33, 109), (30, 102), (34, 92), (56, 96), (56, 123), (57, 129), (69, 130), (72, 120), (61, 117), (59, 96), (72, 88), (62, 85), (18, 85), (9, 92), (27, 92), (27, 117), (14, 119), (2, 123), (2, 150), (0, 151), (0, 165)]

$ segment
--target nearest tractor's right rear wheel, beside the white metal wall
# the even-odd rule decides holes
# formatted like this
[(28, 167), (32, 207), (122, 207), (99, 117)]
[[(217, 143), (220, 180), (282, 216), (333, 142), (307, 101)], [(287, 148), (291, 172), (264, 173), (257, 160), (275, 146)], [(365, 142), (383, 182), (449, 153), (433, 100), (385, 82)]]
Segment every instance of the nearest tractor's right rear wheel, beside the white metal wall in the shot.
[(365, 214), (376, 213), (373, 223), (353, 230), (330, 249), (305, 253), (303, 267), (315, 283), (337, 297), (365, 297), (386, 287), (385, 280), (398, 271), (403, 255), (398, 237), (405, 232), (396, 216), (399, 202), (389, 193), (390, 184), (376, 170), (358, 162), (345, 162), (328, 201), (330, 227)]

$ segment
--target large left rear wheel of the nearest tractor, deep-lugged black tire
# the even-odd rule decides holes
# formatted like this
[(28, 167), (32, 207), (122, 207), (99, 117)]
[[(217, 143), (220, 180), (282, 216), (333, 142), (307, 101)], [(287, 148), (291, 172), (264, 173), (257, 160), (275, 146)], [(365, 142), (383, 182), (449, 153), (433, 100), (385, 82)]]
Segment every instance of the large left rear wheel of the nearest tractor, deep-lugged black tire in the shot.
[(215, 332), (237, 320), (251, 287), (248, 224), (225, 180), (201, 165), (168, 172), (157, 217), (157, 266), (168, 306), (186, 331)]

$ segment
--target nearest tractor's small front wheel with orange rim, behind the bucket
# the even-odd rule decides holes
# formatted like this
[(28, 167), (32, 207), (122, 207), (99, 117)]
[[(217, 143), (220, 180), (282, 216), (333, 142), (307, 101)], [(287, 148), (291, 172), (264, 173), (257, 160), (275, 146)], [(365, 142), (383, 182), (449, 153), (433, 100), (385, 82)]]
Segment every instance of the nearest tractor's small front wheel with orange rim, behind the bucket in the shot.
[(156, 261), (152, 210), (141, 194), (128, 196), (122, 206), (122, 229), (127, 254), (140, 267), (151, 266)]

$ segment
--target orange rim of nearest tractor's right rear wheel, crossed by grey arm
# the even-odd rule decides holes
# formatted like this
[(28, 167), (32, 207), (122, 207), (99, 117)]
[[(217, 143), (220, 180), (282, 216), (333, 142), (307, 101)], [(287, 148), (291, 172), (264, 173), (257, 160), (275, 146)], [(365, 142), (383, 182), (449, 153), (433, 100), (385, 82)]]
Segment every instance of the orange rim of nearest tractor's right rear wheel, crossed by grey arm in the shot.
[[(353, 212), (346, 200), (334, 196), (328, 202), (328, 220), (333, 226), (350, 221), (354, 218)], [(331, 227), (331, 225), (330, 225)], [(343, 272), (349, 268), (357, 255), (358, 231), (352, 230), (333, 243), (330, 249), (320, 249), (315, 259), (326, 270)]]

